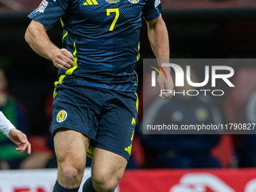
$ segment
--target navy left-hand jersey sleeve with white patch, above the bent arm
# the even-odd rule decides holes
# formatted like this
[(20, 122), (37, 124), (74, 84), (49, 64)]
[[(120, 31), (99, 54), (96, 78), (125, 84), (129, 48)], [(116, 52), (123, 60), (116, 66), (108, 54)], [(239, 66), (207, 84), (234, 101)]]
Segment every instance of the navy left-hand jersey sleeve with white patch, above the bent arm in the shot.
[(69, 0), (43, 0), (28, 17), (50, 29), (66, 13), (68, 7)]

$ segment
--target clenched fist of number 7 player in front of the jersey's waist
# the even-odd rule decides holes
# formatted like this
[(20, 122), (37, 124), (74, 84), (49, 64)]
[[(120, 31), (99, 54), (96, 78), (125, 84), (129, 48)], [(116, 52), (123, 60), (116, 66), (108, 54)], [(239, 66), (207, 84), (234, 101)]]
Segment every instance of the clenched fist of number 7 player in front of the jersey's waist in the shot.
[(74, 66), (75, 58), (69, 50), (62, 48), (54, 53), (52, 60), (56, 68), (67, 70)]

